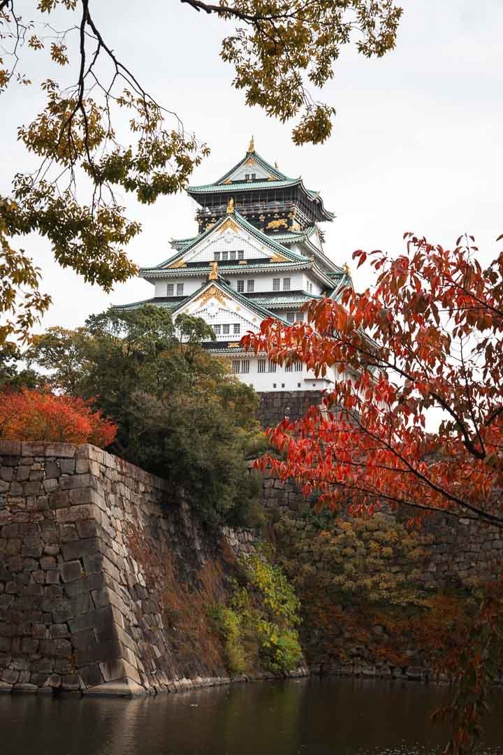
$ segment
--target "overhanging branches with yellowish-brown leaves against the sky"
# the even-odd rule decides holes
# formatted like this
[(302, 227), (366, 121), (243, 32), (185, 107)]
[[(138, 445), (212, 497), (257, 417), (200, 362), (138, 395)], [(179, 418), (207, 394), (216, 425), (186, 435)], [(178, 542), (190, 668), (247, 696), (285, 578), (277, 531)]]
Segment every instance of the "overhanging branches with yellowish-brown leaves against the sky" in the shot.
[[(235, 67), (234, 85), (269, 116), (282, 122), (299, 116), (298, 144), (326, 140), (335, 112), (314, 100), (309, 86), (323, 88), (333, 77), (343, 45), (354, 42), (367, 57), (391, 50), (401, 14), (392, 0), (181, 2), (204, 11), (199, 23), (212, 14), (238, 24), (220, 52)], [(68, 67), (73, 84), (63, 85), (63, 72), (41, 82), (46, 106), (19, 128), (18, 138), (39, 162), (14, 177), (11, 196), (0, 196), (0, 344), (12, 335), (26, 340), (51, 302), (38, 290), (38, 268), (13, 239), (39, 233), (63, 267), (109, 291), (136, 273), (124, 247), (140, 233), (115, 193), (155, 202), (182, 190), (209, 153), (136, 78), (115, 40), (103, 37), (90, 0), (33, 6), (35, 19), (25, 20), (19, 0), (0, 0), (0, 94), (31, 84), (20, 70), (26, 49), (47, 50), (54, 66)], [(54, 28), (51, 14), (63, 30)], [(118, 138), (124, 125), (128, 143)]]

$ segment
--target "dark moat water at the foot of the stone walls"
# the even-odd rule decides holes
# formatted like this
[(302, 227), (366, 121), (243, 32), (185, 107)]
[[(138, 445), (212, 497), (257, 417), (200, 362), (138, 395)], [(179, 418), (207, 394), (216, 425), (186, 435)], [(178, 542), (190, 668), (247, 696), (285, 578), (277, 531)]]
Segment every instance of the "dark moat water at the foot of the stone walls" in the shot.
[[(124, 701), (0, 696), (2, 755), (432, 755), (446, 689), (365, 680), (213, 687)], [(496, 705), (497, 711), (500, 706)], [(480, 755), (503, 755), (488, 722)]]

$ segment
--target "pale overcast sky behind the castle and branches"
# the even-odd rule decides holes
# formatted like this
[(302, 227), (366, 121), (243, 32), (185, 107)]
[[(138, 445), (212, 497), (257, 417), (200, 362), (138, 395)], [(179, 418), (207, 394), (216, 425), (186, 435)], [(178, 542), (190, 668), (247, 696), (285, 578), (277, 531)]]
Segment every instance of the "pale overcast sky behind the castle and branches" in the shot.
[[(33, 5), (20, 0), (18, 8), (28, 17)], [(291, 140), (293, 124), (248, 108), (232, 88), (232, 67), (219, 59), (220, 41), (231, 29), (221, 21), (178, 0), (150, 0), (141, 12), (124, 0), (91, 0), (90, 8), (136, 78), (210, 146), (191, 183), (219, 178), (244, 156), (253, 134), (257, 152), (287, 175), (302, 175), (336, 213), (323, 226), (325, 251), (336, 263), (354, 270), (351, 254), (358, 248), (399, 254), (408, 230), (447, 247), (472, 233), (487, 261), (503, 232), (503, 3), (403, 0), (402, 6), (394, 51), (379, 60), (343, 51), (319, 97), (336, 107), (333, 134), (324, 145), (302, 147)], [(55, 75), (41, 57), (31, 64), (35, 85)], [(0, 194), (10, 192), (16, 171), (35, 167), (17, 142), (17, 126), (33, 118), (37, 105), (36, 88), (2, 95)], [(197, 231), (197, 205), (185, 194), (152, 207), (121, 200), (143, 227), (127, 247), (140, 266), (168, 257), (171, 238)], [(110, 304), (153, 295), (143, 279), (106, 294), (61, 269), (44, 239), (29, 236), (22, 245), (41, 268), (41, 290), (53, 298), (44, 327), (72, 328)], [(367, 267), (354, 271), (354, 282), (372, 284)]]

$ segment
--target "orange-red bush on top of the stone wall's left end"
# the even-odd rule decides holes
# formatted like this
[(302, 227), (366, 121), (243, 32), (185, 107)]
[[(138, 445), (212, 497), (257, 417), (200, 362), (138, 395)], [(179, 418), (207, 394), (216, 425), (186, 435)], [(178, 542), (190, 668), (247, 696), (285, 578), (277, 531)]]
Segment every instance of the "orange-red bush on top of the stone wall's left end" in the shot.
[(103, 448), (115, 432), (115, 424), (83, 399), (26, 389), (0, 393), (2, 439), (93, 443)]

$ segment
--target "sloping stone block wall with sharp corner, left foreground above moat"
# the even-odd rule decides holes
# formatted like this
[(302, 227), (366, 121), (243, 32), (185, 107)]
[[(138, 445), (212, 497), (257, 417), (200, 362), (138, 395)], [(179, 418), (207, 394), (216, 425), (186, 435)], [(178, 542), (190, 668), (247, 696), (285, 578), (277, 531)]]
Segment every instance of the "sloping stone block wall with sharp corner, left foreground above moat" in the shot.
[(131, 695), (228, 681), (207, 609), (253, 534), (90, 445), (0, 442), (0, 689)]

